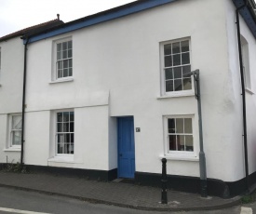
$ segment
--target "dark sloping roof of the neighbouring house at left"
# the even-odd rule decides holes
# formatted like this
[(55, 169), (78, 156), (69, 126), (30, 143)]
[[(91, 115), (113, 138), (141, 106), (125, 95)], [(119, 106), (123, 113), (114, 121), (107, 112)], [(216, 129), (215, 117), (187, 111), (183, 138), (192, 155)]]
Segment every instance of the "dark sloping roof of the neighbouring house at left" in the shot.
[(4, 35), (4, 36), (0, 37), (0, 42), (7, 41), (8, 39), (19, 37), (19, 36), (21, 37), (21, 36), (31, 35), (34, 33), (42, 33), (42, 32), (45, 32), (47, 29), (51, 29), (53, 27), (60, 26), (61, 24), (64, 24), (64, 22), (62, 20), (58, 20), (58, 19), (49, 20), (47, 22), (40, 23), (40, 24), (31, 26), (31, 27), (22, 29), (15, 33), (10, 33), (10, 34)]

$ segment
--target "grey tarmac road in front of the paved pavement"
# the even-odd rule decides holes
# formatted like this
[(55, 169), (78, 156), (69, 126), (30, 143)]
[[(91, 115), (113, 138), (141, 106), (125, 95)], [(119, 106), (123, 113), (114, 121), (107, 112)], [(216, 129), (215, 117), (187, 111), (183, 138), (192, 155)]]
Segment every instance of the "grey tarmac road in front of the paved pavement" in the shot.
[[(251, 204), (256, 213), (256, 204)], [(209, 211), (155, 212), (137, 210), (126, 207), (115, 207), (61, 197), (56, 195), (38, 194), (12, 188), (0, 187), (0, 213), (21, 214), (251, 214), (250, 209), (241, 211), (241, 207)]]

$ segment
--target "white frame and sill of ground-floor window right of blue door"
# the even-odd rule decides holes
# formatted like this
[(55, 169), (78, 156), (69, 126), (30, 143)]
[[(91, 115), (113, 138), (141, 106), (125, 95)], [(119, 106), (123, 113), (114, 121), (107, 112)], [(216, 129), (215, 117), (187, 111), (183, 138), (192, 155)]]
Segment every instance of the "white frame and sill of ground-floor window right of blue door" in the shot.
[[(193, 151), (171, 151), (169, 150), (169, 141), (168, 141), (168, 119), (179, 119), (179, 118), (189, 118), (192, 119), (192, 136), (193, 136)], [(195, 115), (194, 114), (181, 114), (181, 115), (165, 115), (163, 116), (163, 126), (164, 126), (164, 157), (168, 159), (174, 160), (195, 160), (198, 161), (198, 139), (195, 136), (195, 132), (197, 130), (195, 123)], [(190, 134), (189, 134), (190, 135)]]

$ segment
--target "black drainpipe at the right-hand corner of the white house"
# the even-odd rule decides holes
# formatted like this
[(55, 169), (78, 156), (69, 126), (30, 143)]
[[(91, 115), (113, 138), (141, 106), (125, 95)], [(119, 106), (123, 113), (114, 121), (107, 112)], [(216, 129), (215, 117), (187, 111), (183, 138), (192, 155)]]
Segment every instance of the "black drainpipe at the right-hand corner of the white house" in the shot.
[(239, 52), (239, 64), (241, 75), (241, 87), (242, 87), (242, 102), (243, 102), (243, 129), (244, 129), (244, 153), (245, 153), (245, 169), (246, 169), (246, 191), (249, 193), (249, 167), (248, 167), (248, 144), (247, 144), (247, 116), (246, 116), (246, 94), (245, 94), (245, 76), (243, 69), (242, 58), (242, 46), (241, 46), (241, 33), (240, 33), (240, 20), (239, 11), (248, 6), (248, 0), (246, 3), (236, 8), (236, 27), (237, 27), (237, 40), (238, 40), (238, 52)]

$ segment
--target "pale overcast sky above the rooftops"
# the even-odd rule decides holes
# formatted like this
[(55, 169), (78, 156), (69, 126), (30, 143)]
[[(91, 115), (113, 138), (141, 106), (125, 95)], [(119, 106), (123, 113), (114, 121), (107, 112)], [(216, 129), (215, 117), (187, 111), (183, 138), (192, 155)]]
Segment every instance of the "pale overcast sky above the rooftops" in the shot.
[(69, 22), (135, 0), (0, 0), (0, 37), (57, 19)]

